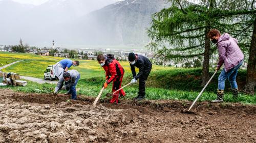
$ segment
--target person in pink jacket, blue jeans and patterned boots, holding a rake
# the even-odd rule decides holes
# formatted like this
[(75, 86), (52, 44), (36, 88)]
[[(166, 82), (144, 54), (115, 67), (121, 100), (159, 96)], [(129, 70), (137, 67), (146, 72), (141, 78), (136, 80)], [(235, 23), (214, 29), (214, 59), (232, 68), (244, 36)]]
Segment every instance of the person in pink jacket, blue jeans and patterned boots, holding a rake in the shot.
[(219, 62), (216, 70), (220, 70), (221, 66), (224, 64), (224, 68), (218, 78), (217, 99), (211, 102), (223, 102), (225, 80), (227, 78), (231, 85), (233, 97), (237, 98), (238, 84), (236, 77), (238, 69), (244, 61), (244, 54), (238, 46), (238, 40), (232, 38), (227, 33), (221, 35), (218, 30), (211, 30), (208, 33), (208, 38), (210, 38), (212, 43), (217, 44), (218, 47)]

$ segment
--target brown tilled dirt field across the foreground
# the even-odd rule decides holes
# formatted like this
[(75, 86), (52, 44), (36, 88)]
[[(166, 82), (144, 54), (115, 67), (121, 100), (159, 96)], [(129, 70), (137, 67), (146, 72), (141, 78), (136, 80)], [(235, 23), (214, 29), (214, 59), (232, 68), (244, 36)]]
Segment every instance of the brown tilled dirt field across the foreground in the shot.
[[(256, 106), (93, 98), (0, 90), (0, 142), (256, 142)], [(157, 103), (158, 102), (158, 103)], [(136, 104), (136, 105), (132, 105)]]

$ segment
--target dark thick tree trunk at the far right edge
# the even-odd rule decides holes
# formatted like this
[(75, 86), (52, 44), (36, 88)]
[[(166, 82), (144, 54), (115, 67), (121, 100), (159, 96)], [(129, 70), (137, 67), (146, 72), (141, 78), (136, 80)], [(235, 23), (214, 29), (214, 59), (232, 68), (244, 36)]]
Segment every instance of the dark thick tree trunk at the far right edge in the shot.
[(256, 18), (253, 22), (253, 32), (251, 37), (251, 45), (249, 52), (249, 59), (247, 65), (247, 76), (245, 84), (245, 92), (253, 94), (256, 86)]

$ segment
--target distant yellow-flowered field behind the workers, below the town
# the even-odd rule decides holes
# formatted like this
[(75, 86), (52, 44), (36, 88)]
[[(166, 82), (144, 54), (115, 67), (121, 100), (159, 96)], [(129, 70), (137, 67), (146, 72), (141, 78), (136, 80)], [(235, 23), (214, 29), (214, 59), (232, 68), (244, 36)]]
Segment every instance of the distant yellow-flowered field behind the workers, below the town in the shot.
[[(53, 57), (53, 56), (40, 56), (29, 53), (10, 53), (10, 52), (0, 52), (1, 62), (3, 65), (24, 60), (24, 62), (20, 62), (9, 66), (3, 69), (3, 72), (14, 72), (24, 76), (31, 76), (37, 78), (44, 78), (44, 71), (49, 65), (53, 65), (56, 62), (60, 61), (63, 58)], [(2, 61), (3, 59), (3, 61)], [(8, 60), (5, 60), (8, 59)], [(9, 61), (9, 59), (12, 59)], [(77, 67), (71, 67), (70, 69), (75, 69), (80, 72), (81, 79), (90, 78), (90, 77), (103, 77), (104, 70), (100, 67), (97, 61), (91, 60), (78, 60), (80, 65)], [(129, 62), (120, 62), (123, 66), (125, 73), (131, 73)], [(163, 67), (154, 65), (152, 71), (157, 70), (167, 70), (172, 69), (171, 67)], [(138, 69), (137, 69), (138, 71)]]

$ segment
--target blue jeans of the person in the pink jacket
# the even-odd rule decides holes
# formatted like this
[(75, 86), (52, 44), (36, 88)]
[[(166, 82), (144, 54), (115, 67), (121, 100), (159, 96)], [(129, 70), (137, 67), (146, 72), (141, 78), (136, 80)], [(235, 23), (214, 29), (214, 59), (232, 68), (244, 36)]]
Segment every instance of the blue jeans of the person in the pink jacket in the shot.
[(238, 69), (242, 66), (243, 62), (244, 62), (244, 60), (242, 60), (236, 67), (233, 67), (232, 69), (230, 69), (227, 73), (226, 73), (225, 69), (223, 68), (223, 70), (221, 71), (221, 74), (218, 78), (218, 89), (219, 90), (225, 89), (225, 80), (227, 78), (230, 82), (231, 89), (238, 88), (236, 77), (238, 74)]

